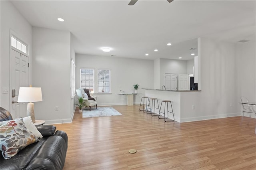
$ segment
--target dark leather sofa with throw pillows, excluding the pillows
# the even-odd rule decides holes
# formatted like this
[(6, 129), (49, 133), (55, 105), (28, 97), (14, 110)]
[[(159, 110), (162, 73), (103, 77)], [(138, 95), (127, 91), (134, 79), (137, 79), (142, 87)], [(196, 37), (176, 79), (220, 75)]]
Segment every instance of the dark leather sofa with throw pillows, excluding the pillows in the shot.
[[(12, 120), (11, 114), (1, 107), (0, 121)], [(1, 154), (1, 170), (62, 170), (68, 149), (66, 132), (53, 125), (38, 126), (42, 134), (39, 142), (20, 150), (14, 157), (5, 160)]]

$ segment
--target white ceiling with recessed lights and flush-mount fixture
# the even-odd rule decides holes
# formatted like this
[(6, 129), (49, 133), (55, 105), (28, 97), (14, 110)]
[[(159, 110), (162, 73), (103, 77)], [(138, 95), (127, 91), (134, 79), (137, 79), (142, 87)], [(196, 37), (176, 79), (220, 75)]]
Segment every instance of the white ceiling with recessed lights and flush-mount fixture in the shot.
[[(12, 1), (32, 26), (70, 31), (76, 53), (192, 59), (197, 38), (255, 41), (256, 1)], [(59, 22), (57, 18), (63, 18)], [(171, 46), (166, 44), (170, 42)], [(102, 47), (112, 51), (103, 52)], [(157, 52), (154, 49), (158, 49)], [(145, 54), (149, 55), (146, 56)]]

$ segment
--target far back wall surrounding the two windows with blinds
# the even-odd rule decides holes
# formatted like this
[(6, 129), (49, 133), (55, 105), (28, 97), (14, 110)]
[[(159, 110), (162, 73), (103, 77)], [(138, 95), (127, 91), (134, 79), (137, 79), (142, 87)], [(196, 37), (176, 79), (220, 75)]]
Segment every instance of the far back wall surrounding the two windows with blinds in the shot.
[[(138, 84), (134, 103), (139, 104), (145, 91), (141, 88), (154, 87), (154, 61), (143, 59), (130, 59), (108, 56), (94, 56), (76, 54), (76, 89), (80, 88), (80, 68), (111, 69), (111, 93), (97, 94), (98, 105), (126, 105), (126, 96), (118, 95), (120, 90), (125, 93), (134, 93), (132, 85)], [(98, 84), (95, 76), (95, 85)], [(98, 91), (97, 89), (95, 90)]]

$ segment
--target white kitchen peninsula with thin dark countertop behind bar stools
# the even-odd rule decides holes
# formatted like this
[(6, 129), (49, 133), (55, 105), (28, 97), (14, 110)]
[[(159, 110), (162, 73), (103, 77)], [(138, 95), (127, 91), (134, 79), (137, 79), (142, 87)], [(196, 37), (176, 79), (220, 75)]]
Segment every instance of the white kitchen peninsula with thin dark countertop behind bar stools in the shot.
[[(181, 123), (196, 121), (198, 119), (198, 117), (196, 117), (196, 109), (200, 108), (200, 102), (198, 102), (202, 93), (200, 90), (172, 91), (162, 89), (142, 89), (145, 90), (145, 96), (158, 99), (159, 107), (163, 100), (172, 101), (172, 109), (174, 112), (175, 121)], [(171, 110), (170, 105), (168, 105), (168, 107), (168, 109)], [(161, 112), (164, 112), (164, 105), (161, 108)], [(159, 113), (157, 109), (156, 113)], [(172, 114), (169, 114), (169, 117), (172, 119)]]

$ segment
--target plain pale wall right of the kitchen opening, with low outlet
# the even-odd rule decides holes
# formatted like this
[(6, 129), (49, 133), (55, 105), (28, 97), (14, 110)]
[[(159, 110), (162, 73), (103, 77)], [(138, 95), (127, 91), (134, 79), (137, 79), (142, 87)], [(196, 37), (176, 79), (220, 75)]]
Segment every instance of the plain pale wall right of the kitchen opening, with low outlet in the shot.
[(240, 115), (235, 44), (201, 38), (200, 49), (202, 92), (184, 97), (182, 122)]

